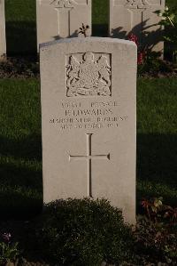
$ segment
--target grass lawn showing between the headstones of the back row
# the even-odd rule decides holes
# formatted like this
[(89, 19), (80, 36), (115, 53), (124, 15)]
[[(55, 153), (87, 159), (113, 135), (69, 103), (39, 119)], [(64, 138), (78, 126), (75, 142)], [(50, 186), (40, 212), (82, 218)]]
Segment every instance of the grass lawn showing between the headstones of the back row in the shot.
[[(93, 36), (107, 36), (109, 0), (92, 0)], [(166, 0), (169, 6), (177, 1)], [(7, 52), (13, 54), (36, 53), (35, 0), (5, 0)]]

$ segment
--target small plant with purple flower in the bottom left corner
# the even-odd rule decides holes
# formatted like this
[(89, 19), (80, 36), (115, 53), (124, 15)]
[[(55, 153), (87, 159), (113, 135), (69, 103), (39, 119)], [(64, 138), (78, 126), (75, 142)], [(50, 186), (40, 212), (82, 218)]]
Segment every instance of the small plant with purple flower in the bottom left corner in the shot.
[(16, 262), (19, 256), (18, 242), (12, 243), (10, 233), (0, 234), (0, 265)]

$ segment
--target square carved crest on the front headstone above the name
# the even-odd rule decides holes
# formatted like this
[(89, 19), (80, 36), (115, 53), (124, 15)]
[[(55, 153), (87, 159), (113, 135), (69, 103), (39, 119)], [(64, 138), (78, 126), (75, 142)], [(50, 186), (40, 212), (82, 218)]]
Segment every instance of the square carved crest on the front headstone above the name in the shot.
[(66, 65), (66, 96), (111, 96), (111, 55), (71, 55)]

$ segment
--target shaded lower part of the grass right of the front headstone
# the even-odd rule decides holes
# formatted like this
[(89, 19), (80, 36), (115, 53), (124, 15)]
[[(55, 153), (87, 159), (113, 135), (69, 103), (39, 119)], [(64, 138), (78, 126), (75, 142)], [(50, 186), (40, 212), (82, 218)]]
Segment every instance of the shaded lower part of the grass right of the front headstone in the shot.
[(137, 135), (137, 203), (142, 197), (163, 197), (176, 205), (177, 135)]

